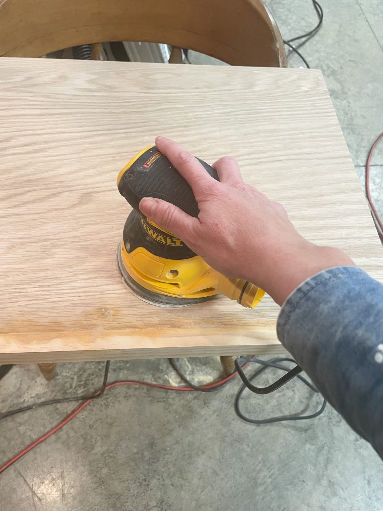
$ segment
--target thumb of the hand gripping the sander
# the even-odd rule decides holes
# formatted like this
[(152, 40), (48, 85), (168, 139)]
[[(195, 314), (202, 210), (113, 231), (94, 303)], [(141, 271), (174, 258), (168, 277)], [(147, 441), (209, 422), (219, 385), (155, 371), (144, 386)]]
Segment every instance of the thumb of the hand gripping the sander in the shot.
[(159, 227), (169, 230), (177, 238), (186, 241), (199, 220), (187, 215), (179, 207), (161, 199), (144, 197), (138, 207), (145, 216)]

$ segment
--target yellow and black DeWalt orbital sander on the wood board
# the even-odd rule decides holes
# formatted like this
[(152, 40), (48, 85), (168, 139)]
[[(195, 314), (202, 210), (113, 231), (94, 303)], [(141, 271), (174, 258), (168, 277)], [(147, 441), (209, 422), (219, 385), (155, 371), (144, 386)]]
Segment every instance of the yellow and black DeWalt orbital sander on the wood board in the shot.
[[(215, 169), (199, 161), (218, 179)], [(136, 296), (150, 304), (179, 307), (221, 293), (244, 307), (258, 305), (264, 291), (213, 270), (179, 238), (140, 213), (139, 201), (155, 197), (175, 204), (188, 215), (199, 214), (192, 189), (156, 146), (146, 147), (129, 161), (118, 174), (117, 187), (133, 207), (118, 246), (117, 266)]]

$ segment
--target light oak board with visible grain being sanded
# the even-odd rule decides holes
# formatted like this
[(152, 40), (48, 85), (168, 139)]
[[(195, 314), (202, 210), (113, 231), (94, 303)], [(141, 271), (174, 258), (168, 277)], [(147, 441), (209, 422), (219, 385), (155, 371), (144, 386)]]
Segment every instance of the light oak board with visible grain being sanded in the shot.
[(0, 94), (0, 363), (280, 351), (269, 297), (161, 309), (122, 284), (115, 180), (157, 134), (235, 156), (304, 236), (383, 281), (319, 71), (6, 58)]

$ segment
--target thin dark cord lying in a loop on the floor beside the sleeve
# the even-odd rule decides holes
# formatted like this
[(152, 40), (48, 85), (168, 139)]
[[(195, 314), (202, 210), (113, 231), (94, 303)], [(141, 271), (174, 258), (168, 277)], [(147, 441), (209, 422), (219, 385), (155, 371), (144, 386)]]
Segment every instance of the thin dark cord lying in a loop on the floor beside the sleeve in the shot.
[[(291, 370), (290, 367), (281, 365), (279, 362), (294, 362), (294, 363), (296, 363), (294, 359), (285, 358), (285, 357), (277, 357), (272, 360), (260, 360), (258, 358), (241, 357), (241, 360), (244, 360), (246, 362), (254, 362), (254, 363), (257, 363), (257, 364), (260, 364), (263, 366), (263, 367), (260, 367), (259, 369), (257, 369), (255, 371), (255, 373), (248, 378), (249, 382), (252, 382), (257, 376), (259, 376), (261, 373), (263, 373), (266, 369), (268, 369), (270, 367), (275, 367), (276, 369), (281, 369), (281, 370), (287, 371), (287, 372), (289, 372)], [(306, 380), (303, 376), (297, 375), (296, 378), (301, 380), (313, 392), (319, 393), (318, 389), (312, 383), (310, 383), (308, 380)], [(246, 384), (243, 384), (242, 387), (240, 388), (240, 390), (238, 390), (237, 395), (235, 396), (234, 409), (235, 409), (235, 413), (238, 415), (238, 417), (240, 417), (244, 421), (250, 422), (252, 424), (272, 424), (275, 422), (303, 421), (306, 419), (314, 419), (314, 417), (318, 417), (318, 415), (320, 415), (326, 407), (326, 400), (323, 399), (322, 406), (320, 407), (320, 409), (317, 412), (311, 413), (309, 415), (286, 415), (286, 416), (280, 416), (280, 417), (269, 417), (268, 419), (253, 419), (252, 417), (248, 417), (247, 415), (245, 415), (240, 409), (240, 400), (241, 400), (242, 394), (244, 393), (246, 388), (248, 388), (248, 386)]]

